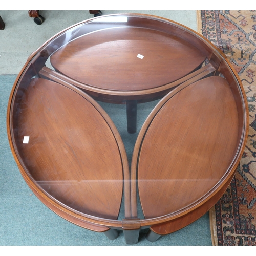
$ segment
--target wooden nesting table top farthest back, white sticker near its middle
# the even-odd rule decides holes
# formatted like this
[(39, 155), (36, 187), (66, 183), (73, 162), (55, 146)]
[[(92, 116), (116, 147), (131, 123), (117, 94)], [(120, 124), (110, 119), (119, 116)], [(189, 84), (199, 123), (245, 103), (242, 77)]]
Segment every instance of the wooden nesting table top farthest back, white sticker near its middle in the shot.
[(175, 35), (117, 27), (70, 41), (52, 54), (51, 64), (56, 71), (93, 87), (139, 91), (176, 81), (205, 59), (199, 49)]

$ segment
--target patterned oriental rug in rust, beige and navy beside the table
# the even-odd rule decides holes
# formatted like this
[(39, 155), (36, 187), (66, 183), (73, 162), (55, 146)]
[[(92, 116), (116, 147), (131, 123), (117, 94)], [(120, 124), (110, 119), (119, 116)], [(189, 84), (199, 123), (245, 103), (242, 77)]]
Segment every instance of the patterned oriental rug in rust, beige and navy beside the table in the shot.
[(243, 83), (249, 135), (236, 175), (210, 214), (213, 245), (256, 245), (256, 11), (198, 11), (198, 32), (227, 56)]

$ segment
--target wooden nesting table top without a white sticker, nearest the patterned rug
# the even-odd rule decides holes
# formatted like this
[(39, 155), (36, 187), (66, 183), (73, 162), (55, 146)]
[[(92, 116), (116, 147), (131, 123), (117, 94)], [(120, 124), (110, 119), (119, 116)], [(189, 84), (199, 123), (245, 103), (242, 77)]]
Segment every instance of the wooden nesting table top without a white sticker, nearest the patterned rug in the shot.
[(221, 182), (238, 150), (238, 118), (221, 77), (191, 84), (149, 117), (137, 165), (145, 218), (195, 204)]

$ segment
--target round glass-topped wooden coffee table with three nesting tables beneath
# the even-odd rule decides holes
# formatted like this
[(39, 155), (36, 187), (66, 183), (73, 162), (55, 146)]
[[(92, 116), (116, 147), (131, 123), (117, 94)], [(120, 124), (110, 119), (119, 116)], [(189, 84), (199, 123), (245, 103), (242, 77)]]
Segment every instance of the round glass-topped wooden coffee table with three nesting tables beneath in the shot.
[[(137, 103), (155, 99), (130, 172), (96, 100), (126, 104), (134, 133)], [(122, 229), (134, 244), (140, 229), (156, 241), (219, 200), (242, 157), (248, 110), (238, 75), (205, 38), (164, 18), (118, 14), (67, 28), (31, 54), (10, 95), (7, 130), (21, 174), (46, 206), (109, 239)]]

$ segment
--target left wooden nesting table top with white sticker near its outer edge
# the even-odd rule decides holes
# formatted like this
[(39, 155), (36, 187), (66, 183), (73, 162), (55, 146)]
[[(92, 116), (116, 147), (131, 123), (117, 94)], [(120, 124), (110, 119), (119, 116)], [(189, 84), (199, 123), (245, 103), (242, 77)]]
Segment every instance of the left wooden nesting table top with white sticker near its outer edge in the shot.
[(14, 101), (16, 154), (31, 180), (67, 208), (117, 219), (127, 161), (102, 110), (82, 92), (37, 78)]

